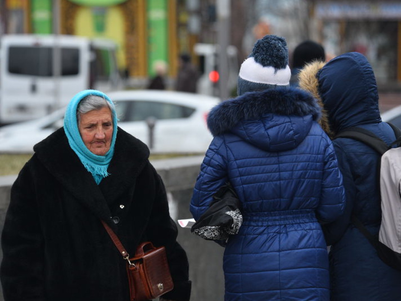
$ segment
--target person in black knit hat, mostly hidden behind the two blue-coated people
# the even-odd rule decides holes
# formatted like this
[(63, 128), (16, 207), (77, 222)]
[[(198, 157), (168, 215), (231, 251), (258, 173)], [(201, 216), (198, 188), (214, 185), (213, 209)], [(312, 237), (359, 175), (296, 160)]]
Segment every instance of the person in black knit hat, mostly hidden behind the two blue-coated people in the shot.
[(292, 53), (292, 70), (290, 85), (298, 86), (298, 73), (308, 63), (312, 61), (326, 61), (326, 53), (322, 45), (314, 41), (303, 41), (295, 47)]

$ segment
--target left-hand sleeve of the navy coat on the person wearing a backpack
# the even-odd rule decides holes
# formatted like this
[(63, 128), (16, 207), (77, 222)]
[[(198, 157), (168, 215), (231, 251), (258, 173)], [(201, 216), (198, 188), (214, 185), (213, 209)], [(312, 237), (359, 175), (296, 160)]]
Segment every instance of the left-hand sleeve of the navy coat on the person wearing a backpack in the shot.
[(324, 232), (324, 238), (328, 246), (337, 242), (345, 233), (351, 220), (351, 213), (353, 208), (353, 200), (356, 195), (356, 187), (352, 176), (352, 171), (349, 165), (349, 161), (346, 156), (346, 152), (341, 148), (339, 144), (334, 142), (336, 150), (336, 156), (338, 159), (338, 165), (342, 173), (344, 187), (346, 191), (346, 202), (344, 205), (344, 214), (332, 223), (325, 224), (322, 226)]

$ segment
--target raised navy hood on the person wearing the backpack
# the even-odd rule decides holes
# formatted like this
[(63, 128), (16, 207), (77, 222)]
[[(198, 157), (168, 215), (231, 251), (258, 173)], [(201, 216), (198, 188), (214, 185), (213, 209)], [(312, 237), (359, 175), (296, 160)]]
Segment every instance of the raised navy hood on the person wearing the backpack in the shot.
[[(375, 74), (365, 56), (350, 52), (323, 66), (314, 64), (301, 73), (310, 72), (305, 75), (309, 79), (316, 76), (317, 85), (313, 87), (312, 84), (310, 88), (314, 91), (309, 91), (320, 96), (334, 133), (350, 126), (381, 121)], [(302, 88), (308, 85), (305, 77), (300, 74)]]

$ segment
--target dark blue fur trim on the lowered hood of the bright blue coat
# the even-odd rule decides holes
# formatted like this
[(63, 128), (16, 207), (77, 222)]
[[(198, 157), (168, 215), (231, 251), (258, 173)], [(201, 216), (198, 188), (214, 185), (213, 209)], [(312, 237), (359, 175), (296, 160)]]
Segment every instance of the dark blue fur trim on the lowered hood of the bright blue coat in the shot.
[(243, 120), (258, 119), (265, 114), (284, 116), (312, 115), (318, 121), (321, 109), (308, 92), (296, 88), (277, 88), (245, 93), (215, 106), (207, 125), (213, 136), (223, 134)]

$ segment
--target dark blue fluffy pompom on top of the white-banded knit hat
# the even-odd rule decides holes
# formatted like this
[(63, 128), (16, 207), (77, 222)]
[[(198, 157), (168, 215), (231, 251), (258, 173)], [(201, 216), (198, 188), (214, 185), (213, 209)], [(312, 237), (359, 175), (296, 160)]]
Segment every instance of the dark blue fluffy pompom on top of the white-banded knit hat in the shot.
[(263, 67), (271, 66), (284, 69), (288, 65), (288, 48), (286, 40), (275, 35), (266, 35), (256, 41), (249, 55)]

